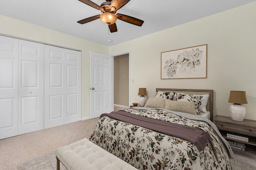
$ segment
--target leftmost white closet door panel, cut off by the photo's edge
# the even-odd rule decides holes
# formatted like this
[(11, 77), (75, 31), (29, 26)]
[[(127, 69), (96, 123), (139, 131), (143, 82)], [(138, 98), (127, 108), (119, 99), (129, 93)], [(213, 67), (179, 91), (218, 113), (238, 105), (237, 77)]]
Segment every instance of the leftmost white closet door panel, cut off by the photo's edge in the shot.
[(0, 35), (0, 139), (18, 135), (18, 39)]

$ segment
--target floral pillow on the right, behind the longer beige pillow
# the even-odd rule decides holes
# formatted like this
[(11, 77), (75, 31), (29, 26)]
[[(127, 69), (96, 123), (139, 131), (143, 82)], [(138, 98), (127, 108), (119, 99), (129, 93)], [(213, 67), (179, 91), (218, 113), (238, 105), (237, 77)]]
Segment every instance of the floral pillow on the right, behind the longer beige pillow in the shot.
[(177, 93), (177, 101), (184, 101), (184, 102), (194, 102), (196, 113), (200, 115), (200, 111), (198, 110), (198, 106), (201, 104), (201, 98), (203, 96), (193, 95), (193, 94), (184, 94), (184, 93)]

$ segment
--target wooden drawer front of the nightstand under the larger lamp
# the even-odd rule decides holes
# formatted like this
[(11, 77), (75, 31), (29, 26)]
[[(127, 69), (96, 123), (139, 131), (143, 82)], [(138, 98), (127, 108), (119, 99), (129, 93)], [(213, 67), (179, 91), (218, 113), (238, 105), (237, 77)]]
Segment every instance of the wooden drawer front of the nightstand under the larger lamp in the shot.
[(243, 125), (235, 125), (230, 123), (218, 122), (216, 121), (216, 126), (218, 129), (233, 131), (236, 133), (242, 133), (245, 135), (256, 136), (256, 128), (255, 127), (246, 127)]

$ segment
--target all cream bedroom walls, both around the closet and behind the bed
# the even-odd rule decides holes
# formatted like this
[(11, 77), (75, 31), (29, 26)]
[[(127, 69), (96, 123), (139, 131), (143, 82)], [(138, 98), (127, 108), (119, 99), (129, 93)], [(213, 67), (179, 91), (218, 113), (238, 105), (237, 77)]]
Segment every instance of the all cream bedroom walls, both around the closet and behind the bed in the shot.
[[(147, 98), (154, 97), (155, 88), (213, 89), (214, 115), (228, 116), (229, 91), (244, 90), (248, 100), (245, 118), (256, 120), (255, 9), (253, 2), (111, 47), (2, 15), (0, 34), (82, 51), (82, 118), (90, 116), (90, 51), (130, 51), (132, 102), (138, 102), (142, 86), (147, 88)], [(208, 78), (160, 79), (161, 52), (203, 44), (208, 44)]]

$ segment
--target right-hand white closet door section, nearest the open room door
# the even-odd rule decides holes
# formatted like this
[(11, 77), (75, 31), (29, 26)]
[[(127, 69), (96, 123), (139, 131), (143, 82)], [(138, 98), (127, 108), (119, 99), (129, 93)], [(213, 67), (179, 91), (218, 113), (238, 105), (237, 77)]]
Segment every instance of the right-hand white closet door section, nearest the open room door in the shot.
[(45, 45), (45, 123), (81, 120), (81, 52)]

